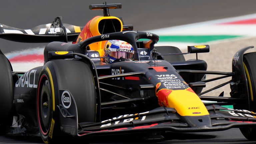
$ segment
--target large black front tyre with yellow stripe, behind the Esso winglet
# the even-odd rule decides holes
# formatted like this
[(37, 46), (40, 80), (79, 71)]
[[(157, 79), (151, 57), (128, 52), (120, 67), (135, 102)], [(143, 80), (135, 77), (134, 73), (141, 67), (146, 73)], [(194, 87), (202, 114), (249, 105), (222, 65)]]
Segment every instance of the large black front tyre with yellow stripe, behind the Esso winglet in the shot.
[(60, 130), (60, 90), (68, 90), (77, 105), (78, 122), (95, 122), (96, 91), (89, 66), (76, 60), (47, 62), (39, 76), (37, 90), (37, 119), (45, 143), (63, 139)]

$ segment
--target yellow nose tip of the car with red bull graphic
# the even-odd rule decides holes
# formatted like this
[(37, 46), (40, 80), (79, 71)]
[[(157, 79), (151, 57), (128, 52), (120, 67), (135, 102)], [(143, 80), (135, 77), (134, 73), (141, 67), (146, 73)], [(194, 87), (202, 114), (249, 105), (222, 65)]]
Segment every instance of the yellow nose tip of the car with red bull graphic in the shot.
[(191, 88), (184, 90), (160, 89), (156, 92), (156, 96), (160, 106), (175, 108), (181, 116), (209, 115), (205, 105)]

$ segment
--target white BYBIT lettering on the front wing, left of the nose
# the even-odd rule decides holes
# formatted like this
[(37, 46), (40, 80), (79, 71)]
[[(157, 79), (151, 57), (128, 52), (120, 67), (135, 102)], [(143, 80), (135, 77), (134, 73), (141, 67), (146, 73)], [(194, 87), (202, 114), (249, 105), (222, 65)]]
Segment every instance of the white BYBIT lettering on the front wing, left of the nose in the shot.
[[(139, 115), (147, 114), (147, 113), (149, 113), (149, 111), (143, 112), (143, 113), (139, 113), (139, 114), (126, 114), (126, 115), (120, 115), (118, 117), (113, 117), (112, 119), (108, 119), (108, 120), (102, 121), (101, 123), (104, 123), (104, 122), (107, 122), (107, 121), (109, 121), (109, 123), (103, 124), (100, 127), (108, 127), (108, 126), (111, 126), (111, 125), (117, 125), (119, 123), (129, 123), (131, 121), (144, 121), (146, 119), (146, 116), (139, 117)], [(123, 119), (123, 120), (117, 120), (117, 119), (121, 119), (121, 118), (125, 118), (125, 117), (131, 117), (131, 116), (136, 116), (136, 115), (138, 115), (138, 117)], [(114, 122), (111, 123), (111, 121), (114, 121)]]

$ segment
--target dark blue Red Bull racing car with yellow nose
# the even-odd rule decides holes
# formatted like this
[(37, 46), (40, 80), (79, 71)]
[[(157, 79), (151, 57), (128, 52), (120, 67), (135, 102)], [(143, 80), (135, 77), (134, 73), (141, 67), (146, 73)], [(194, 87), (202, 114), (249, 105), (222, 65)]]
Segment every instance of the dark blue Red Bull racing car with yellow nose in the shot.
[[(61, 17), (27, 30), (0, 24), (0, 38), (49, 42), (44, 65), (27, 72), (13, 71), (0, 51), (1, 134), (40, 135), (54, 143), (67, 135), (240, 128), (256, 140), (256, 53), (245, 53), (253, 46), (235, 53), (232, 72), (207, 71), (197, 53), (209, 52), (209, 45), (188, 46), (187, 53), (155, 46), (158, 35), (133, 31), (122, 18), (110, 16), (109, 9), (121, 4), (89, 8), (103, 10), (103, 16), (84, 27), (63, 24)], [(191, 53), (196, 59), (185, 60)], [(206, 79), (209, 74), (220, 76)], [(227, 77), (231, 80), (203, 91), (207, 82)], [(227, 84), (230, 96), (205, 95)]]

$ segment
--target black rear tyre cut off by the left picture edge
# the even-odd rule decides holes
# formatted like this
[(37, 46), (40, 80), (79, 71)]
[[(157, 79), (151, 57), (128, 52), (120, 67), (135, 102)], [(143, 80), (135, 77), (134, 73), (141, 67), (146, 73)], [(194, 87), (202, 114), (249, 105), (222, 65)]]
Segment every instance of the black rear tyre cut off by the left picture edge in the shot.
[(8, 133), (12, 125), (13, 80), (12, 70), (8, 59), (0, 50), (0, 135)]

